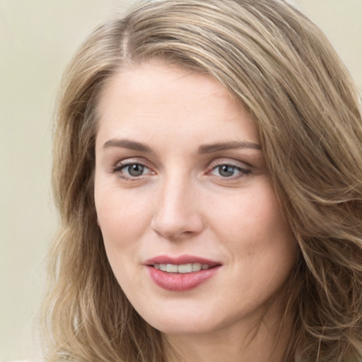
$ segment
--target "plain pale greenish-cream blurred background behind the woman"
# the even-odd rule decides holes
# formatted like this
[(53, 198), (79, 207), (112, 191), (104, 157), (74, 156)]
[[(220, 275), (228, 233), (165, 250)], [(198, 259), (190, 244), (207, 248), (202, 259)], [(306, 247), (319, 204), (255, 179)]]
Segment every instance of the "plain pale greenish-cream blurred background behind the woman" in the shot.
[[(41, 361), (36, 320), (57, 224), (51, 119), (62, 72), (95, 25), (135, 2), (0, 0), (0, 362)], [(362, 0), (290, 2), (325, 31), (362, 91)]]

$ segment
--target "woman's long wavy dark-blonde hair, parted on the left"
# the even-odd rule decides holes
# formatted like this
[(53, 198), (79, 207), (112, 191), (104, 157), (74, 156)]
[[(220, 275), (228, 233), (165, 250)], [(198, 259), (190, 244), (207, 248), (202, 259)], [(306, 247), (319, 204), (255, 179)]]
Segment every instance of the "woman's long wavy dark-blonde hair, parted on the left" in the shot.
[(93, 200), (97, 103), (129, 63), (153, 57), (211, 74), (259, 129), (271, 182), (300, 247), (286, 288), (284, 362), (362, 358), (362, 119), (321, 31), (278, 0), (147, 2), (78, 49), (57, 106), (59, 231), (44, 304), (47, 361), (163, 362), (160, 333), (108, 264)]

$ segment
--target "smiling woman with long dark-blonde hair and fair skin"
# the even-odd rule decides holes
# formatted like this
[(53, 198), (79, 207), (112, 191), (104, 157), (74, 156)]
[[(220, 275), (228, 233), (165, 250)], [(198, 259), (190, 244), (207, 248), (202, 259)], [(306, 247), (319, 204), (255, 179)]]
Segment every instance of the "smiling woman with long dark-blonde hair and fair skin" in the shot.
[(144, 4), (62, 89), (49, 361), (361, 361), (361, 108), (313, 23)]

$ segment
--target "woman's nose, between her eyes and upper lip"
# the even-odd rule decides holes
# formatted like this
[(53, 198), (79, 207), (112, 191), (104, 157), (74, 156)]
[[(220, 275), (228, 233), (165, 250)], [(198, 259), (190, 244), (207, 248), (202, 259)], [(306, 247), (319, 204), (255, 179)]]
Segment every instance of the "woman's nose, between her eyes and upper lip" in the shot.
[(192, 238), (204, 229), (199, 197), (192, 182), (174, 177), (159, 185), (151, 228), (168, 240)]

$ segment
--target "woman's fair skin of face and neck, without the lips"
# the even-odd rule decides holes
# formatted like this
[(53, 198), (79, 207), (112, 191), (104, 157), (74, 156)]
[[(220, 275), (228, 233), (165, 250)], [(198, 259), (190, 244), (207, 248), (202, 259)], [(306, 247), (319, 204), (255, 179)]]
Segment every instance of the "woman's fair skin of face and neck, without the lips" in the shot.
[[(99, 111), (98, 225), (117, 281), (163, 333), (169, 360), (280, 361), (280, 291), (296, 243), (250, 114), (211, 76), (156, 61), (120, 70)], [(132, 176), (130, 164), (144, 167), (141, 174)], [(144, 265), (158, 255), (221, 267), (196, 288), (167, 291)]]

